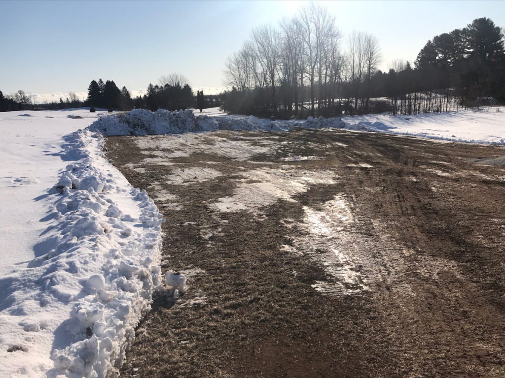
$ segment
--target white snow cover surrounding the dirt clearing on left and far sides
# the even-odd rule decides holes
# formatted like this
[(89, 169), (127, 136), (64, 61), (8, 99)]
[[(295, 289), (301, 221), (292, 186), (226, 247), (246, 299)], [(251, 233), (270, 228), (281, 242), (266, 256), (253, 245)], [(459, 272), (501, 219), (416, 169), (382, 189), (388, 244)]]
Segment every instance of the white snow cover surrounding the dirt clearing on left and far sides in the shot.
[(217, 108), (103, 115), (0, 113), (0, 376), (114, 371), (160, 287), (163, 219), (147, 194), (102, 157), (102, 134), (344, 128), (505, 144), (505, 108), (496, 107), (289, 121), (228, 116)]

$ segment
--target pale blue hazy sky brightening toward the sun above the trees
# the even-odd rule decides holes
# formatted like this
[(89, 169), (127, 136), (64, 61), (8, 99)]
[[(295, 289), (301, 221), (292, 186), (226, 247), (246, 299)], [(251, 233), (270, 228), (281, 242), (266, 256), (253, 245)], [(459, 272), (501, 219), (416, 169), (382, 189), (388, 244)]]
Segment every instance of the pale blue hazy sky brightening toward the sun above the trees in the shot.
[[(304, 3), (0, 0), (0, 90), (82, 97), (92, 79), (102, 78), (137, 94), (178, 72), (210, 94), (224, 84), (224, 61), (252, 28), (277, 24)], [(320, 3), (344, 37), (353, 30), (378, 37), (382, 69), (393, 59), (413, 61), (428, 39), (476, 18), (505, 26), (504, 1)]]

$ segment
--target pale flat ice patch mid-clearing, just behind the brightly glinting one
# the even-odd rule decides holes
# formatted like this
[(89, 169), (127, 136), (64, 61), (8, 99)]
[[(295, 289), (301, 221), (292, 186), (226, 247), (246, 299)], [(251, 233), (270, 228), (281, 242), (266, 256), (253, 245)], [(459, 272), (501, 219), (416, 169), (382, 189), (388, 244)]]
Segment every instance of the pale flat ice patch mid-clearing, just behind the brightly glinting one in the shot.
[[(222, 197), (209, 206), (220, 212), (254, 211), (277, 200), (294, 201), (291, 197), (306, 192), (312, 184), (334, 184), (331, 171), (287, 171), (262, 168), (242, 173), (244, 177), (233, 196)], [(251, 182), (252, 181), (252, 182)]]

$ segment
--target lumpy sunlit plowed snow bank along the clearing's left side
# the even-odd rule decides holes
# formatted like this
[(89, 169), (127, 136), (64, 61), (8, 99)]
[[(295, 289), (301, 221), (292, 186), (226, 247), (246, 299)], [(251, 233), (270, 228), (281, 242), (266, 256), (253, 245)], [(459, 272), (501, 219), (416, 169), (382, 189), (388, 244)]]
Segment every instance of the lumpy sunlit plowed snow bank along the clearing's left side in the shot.
[(2, 376), (115, 373), (161, 284), (154, 202), (102, 157), (100, 134), (65, 141), (61, 158), (74, 163), (41, 196), (36, 258), (0, 278)]

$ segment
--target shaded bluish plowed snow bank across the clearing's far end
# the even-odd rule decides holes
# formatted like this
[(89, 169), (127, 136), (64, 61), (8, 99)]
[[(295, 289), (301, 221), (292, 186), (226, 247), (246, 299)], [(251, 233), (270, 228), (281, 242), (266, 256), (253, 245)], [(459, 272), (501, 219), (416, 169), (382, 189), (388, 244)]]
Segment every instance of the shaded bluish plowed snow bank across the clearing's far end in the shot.
[(229, 118), (226, 116), (198, 115), (192, 110), (151, 112), (135, 109), (125, 114), (99, 118), (89, 126), (105, 136), (112, 135), (163, 135), (216, 130), (289, 131), (292, 127), (282, 121)]

